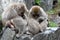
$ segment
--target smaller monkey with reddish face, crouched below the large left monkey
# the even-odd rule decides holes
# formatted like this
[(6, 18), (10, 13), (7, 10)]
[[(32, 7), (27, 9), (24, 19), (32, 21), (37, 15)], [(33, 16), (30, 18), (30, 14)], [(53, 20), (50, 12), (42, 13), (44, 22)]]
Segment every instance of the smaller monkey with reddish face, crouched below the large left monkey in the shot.
[(23, 33), (25, 33), (27, 28), (27, 21), (20, 16), (15, 17), (10, 21), (7, 21), (6, 26), (2, 30), (1, 34), (4, 33), (7, 27), (11, 28), (12, 31), (15, 31), (15, 36), (19, 38)]

